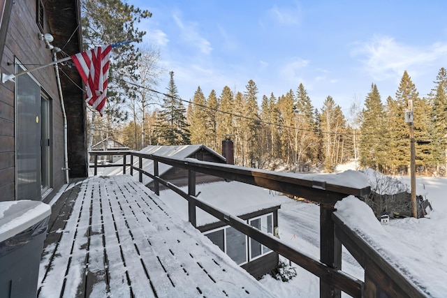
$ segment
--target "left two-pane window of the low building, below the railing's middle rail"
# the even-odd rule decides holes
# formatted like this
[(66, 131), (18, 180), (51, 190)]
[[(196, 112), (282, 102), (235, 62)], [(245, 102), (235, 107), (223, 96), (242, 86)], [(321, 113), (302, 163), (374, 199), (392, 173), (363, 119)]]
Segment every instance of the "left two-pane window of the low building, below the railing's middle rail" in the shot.
[(247, 236), (233, 227), (205, 232), (212, 243), (221, 248), (237, 265), (247, 262)]

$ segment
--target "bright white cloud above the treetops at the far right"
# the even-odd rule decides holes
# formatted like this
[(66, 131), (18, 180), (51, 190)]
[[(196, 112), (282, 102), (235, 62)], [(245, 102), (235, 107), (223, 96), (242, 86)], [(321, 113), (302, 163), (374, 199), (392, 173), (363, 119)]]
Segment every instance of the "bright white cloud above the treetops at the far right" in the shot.
[(356, 44), (351, 54), (360, 57), (362, 70), (373, 80), (383, 81), (402, 77), (404, 70), (411, 70), (411, 75), (423, 73), (428, 64), (445, 59), (447, 43), (416, 47), (397, 43), (389, 36), (374, 36)]

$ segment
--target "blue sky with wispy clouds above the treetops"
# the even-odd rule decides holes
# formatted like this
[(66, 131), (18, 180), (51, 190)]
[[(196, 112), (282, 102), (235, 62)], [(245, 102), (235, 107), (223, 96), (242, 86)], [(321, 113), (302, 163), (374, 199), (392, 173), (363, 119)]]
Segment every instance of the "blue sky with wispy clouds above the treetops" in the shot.
[[(245, 91), (249, 80), (265, 94), (295, 93), (302, 83), (314, 107), (327, 96), (346, 116), (363, 104), (374, 82), (384, 102), (407, 70), (420, 96), (447, 68), (445, 1), (147, 1), (139, 24), (145, 43), (175, 73), (179, 96), (197, 87), (205, 96), (224, 86)], [(166, 91), (168, 73), (159, 91)]]

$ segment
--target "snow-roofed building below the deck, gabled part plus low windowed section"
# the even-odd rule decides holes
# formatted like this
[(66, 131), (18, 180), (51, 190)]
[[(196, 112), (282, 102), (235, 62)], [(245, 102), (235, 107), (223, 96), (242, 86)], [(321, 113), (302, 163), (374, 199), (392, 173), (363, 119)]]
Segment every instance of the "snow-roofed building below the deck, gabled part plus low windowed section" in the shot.
[[(176, 158), (196, 158), (200, 161), (214, 163), (226, 162), (226, 158), (203, 144), (148, 146), (140, 152)], [(117, 163), (122, 163), (122, 161), (117, 161)], [(138, 161), (134, 161), (134, 163), (135, 166), (138, 166)], [(143, 161), (142, 167), (145, 171), (154, 173), (154, 163), (152, 161)], [(126, 172), (129, 173), (129, 171)], [(122, 174), (122, 167), (117, 167), (114, 170), (108, 168), (104, 171), (104, 174)], [(176, 186), (183, 186), (184, 191), (187, 192), (188, 172), (186, 170), (161, 163), (159, 165), (159, 175)], [(138, 179), (138, 174), (135, 174), (135, 172), (134, 177)], [(152, 179), (143, 175), (143, 183), (146, 186), (153, 188), (153, 182)], [(237, 181), (223, 181), (219, 177), (201, 173), (196, 173), (196, 184), (196, 191), (200, 192), (198, 198), (205, 200), (214, 207), (228, 211), (229, 214), (242, 218), (249, 225), (259, 230), (270, 234), (277, 231), (280, 204), (270, 191)], [(188, 205), (184, 198), (169, 189), (161, 191), (160, 198), (177, 211), (185, 221), (188, 220)], [(264, 274), (277, 268), (279, 256), (276, 252), (253, 239), (249, 239), (245, 234), (222, 223), (201, 209), (197, 209), (196, 219), (198, 230), (219, 246), (237, 265), (246, 269), (254, 277), (261, 278)]]

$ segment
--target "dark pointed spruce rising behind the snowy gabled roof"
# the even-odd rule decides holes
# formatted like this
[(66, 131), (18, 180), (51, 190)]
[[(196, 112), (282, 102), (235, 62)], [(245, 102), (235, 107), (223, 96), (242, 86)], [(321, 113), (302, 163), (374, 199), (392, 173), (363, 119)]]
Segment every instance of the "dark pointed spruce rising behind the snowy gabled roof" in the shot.
[(177, 94), (173, 71), (170, 72), (170, 81), (166, 89), (168, 93), (163, 98), (157, 124), (160, 144), (190, 144), (191, 133), (186, 124), (186, 109)]

